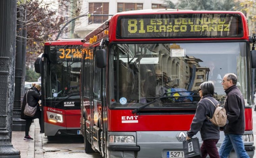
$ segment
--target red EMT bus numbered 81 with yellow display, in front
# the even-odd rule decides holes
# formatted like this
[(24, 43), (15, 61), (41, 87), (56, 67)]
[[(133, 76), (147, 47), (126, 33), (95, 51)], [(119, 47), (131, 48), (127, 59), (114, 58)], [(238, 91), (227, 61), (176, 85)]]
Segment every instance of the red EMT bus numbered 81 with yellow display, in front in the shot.
[[(214, 97), (223, 104), (222, 78), (232, 72), (246, 102), (243, 138), (253, 157), (252, 41), (246, 17), (237, 11), (113, 15), (83, 39), (90, 42), (81, 67), (85, 152), (105, 158), (184, 157), (182, 141), (200, 100), (200, 84), (213, 81)], [(201, 144), (200, 132), (195, 137)], [(221, 131), (218, 148), (223, 139)], [(234, 151), (230, 157), (236, 157)]]

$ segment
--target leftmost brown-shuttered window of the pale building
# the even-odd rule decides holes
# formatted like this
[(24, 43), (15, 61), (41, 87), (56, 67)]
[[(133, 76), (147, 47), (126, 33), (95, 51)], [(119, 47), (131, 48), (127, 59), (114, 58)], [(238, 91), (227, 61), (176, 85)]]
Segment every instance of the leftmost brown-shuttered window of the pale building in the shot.
[[(108, 3), (89, 3), (89, 13), (108, 14)], [(106, 20), (108, 20), (108, 16), (91, 16), (89, 17), (89, 24), (101, 24)]]

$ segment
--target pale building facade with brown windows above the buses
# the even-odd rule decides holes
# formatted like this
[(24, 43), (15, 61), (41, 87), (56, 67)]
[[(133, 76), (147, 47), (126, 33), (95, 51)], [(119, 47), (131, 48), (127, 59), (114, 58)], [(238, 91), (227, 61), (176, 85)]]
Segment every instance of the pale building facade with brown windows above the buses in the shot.
[[(172, 0), (176, 3), (178, 0)], [(111, 15), (129, 10), (167, 8), (165, 0), (83, 0), (80, 15), (88, 15), (76, 20), (75, 34), (83, 38), (86, 34), (108, 20)], [(102, 14), (103, 16), (99, 16)]]

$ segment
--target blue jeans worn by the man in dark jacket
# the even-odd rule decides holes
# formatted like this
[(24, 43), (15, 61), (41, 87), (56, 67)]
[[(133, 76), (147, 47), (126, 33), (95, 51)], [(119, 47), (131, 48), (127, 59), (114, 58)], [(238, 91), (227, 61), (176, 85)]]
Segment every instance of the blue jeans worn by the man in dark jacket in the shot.
[(219, 150), (220, 157), (227, 158), (232, 148), (234, 148), (236, 156), (238, 158), (249, 158), (249, 155), (245, 151), (245, 145), (242, 139), (242, 135), (225, 134), (224, 141)]

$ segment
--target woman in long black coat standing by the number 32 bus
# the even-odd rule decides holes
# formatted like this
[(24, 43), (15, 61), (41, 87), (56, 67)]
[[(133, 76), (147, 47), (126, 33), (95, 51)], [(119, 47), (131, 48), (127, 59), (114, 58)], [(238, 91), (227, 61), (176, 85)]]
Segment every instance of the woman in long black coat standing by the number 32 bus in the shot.
[[(33, 138), (31, 138), (28, 134), (29, 128), (30, 128), (30, 125), (31, 125), (33, 119), (39, 118), (39, 124), (40, 124), (40, 129), (41, 129), (41, 109), (40, 109), (40, 106), (38, 103), (38, 101), (41, 99), (40, 91), (41, 91), (40, 85), (38, 85), (38, 84), (33, 85), (29, 89), (29, 91), (24, 95), (24, 98), (23, 98), (23, 103), (21, 106), (21, 119), (26, 120), (24, 140), (33, 140)], [(24, 108), (25, 108), (25, 105), (27, 102), (30, 106), (33, 106), (33, 107), (37, 106), (36, 113), (33, 117), (27, 116), (24, 114)]]

